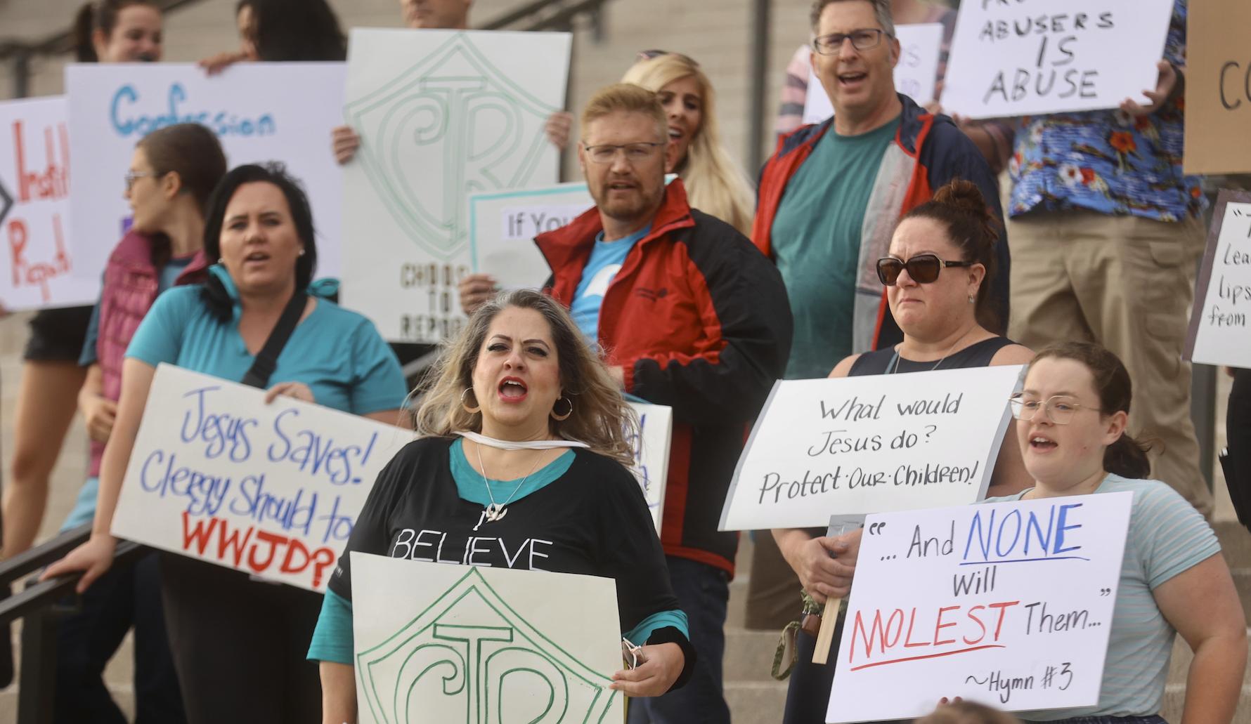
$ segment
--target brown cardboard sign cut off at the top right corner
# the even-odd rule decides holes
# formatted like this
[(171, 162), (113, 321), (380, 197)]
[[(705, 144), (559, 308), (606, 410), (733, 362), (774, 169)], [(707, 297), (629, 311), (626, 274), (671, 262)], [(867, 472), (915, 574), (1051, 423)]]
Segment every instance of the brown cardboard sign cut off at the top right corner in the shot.
[(1251, 173), (1251, 3), (1191, 0), (1186, 14), (1187, 174)]

